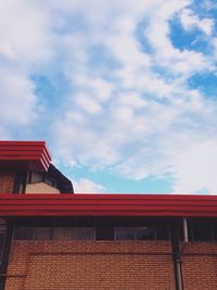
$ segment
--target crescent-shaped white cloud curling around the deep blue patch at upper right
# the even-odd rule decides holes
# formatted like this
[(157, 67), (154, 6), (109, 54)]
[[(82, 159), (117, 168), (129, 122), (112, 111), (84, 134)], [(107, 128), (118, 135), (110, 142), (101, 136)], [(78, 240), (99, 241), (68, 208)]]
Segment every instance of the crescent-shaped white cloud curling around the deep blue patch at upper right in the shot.
[(187, 5), (187, 1), (178, 3), (178, 8), (175, 4), (168, 11), (165, 9), (169, 1), (165, 5), (159, 7), (156, 14), (153, 15), (150, 25), (145, 28), (144, 35), (155, 51), (153, 59), (156, 64), (164, 67), (167, 72), (188, 78), (196, 72), (212, 70), (212, 65), (203, 53), (192, 50), (181, 51), (173, 46), (169, 39), (169, 18), (176, 13), (180, 13), (181, 9), (184, 9)]

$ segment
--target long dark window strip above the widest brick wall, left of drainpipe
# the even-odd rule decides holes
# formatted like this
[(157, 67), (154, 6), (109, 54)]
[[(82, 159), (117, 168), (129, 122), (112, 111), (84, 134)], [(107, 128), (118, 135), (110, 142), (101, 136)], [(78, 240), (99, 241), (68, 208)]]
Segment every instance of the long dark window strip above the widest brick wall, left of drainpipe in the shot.
[(17, 226), (16, 240), (169, 240), (167, 220), (131, 217), (75, 217)]

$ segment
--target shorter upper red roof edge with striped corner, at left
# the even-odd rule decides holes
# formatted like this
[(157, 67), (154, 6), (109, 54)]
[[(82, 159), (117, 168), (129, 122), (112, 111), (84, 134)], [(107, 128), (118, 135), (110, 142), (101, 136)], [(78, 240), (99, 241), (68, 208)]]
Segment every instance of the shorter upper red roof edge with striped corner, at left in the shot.
[(44, 141), (0, 141), (0, 168), (48, 171), (50, 162)]

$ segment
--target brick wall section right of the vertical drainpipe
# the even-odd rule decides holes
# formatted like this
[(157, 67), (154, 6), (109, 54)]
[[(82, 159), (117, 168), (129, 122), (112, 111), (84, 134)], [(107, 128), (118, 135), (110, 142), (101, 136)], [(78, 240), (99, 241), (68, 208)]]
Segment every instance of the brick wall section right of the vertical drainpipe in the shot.
[(217, 243), (189, 243), (182, 256), (183, 288), (217, 289)]

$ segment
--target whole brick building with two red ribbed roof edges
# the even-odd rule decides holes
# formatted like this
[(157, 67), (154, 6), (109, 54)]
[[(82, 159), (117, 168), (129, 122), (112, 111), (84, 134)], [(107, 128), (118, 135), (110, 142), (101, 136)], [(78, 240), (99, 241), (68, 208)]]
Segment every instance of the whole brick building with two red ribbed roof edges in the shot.
[(0, 168), (2, 289), (217, 289), (217, 197), (73, 194), (44, 142)]

